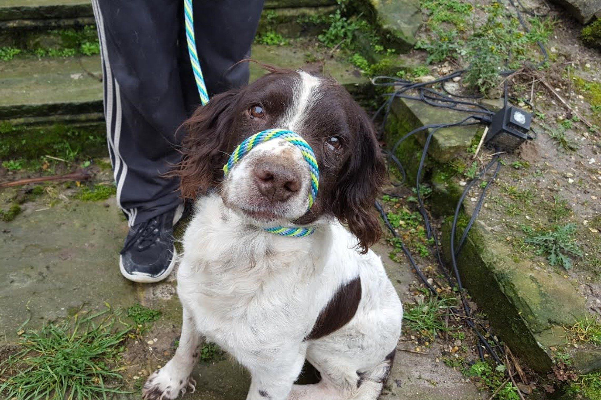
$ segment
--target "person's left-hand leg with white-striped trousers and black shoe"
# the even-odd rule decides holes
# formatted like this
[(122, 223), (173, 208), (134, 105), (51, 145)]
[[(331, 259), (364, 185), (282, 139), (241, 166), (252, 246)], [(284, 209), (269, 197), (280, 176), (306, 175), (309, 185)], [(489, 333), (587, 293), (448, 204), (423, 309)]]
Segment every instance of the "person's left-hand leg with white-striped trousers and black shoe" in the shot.
[(126, 278), (154, 282), (175, 263), (172, 228), (182, 201), (165, 178), (180, 160), (175, 131), (188, 116), (177, 63), (180, 0), (93, 0), (117, 203), (130, 231)]

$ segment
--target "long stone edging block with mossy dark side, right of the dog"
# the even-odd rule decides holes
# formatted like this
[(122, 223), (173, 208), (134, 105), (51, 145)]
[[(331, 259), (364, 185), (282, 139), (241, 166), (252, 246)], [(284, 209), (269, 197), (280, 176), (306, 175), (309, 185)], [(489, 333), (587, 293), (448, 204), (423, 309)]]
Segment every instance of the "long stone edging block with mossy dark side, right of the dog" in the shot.
[[(442, 229), (447, 262), (451, 222), (448, 218)], [(456, 240), (461, 234), (459, 226)], [(565, 339), (554, 329), (588, 315), (584, 296), (569, 281), (527, 260), (516, 262), (510, 249), (480, 221), (469, 232), (457, 266), (465, 287), (487, 313), (499, 338), (537, 372), (548, 372), (553, 365), (549, 344)]]

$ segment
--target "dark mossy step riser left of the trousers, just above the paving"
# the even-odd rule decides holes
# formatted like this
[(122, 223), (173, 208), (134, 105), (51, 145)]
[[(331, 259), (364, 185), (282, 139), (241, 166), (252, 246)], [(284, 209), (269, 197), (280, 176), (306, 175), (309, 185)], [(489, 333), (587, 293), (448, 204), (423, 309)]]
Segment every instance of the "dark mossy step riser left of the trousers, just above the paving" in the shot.
[(106, 131), (103, 124), (72, 127), (55, 124), (46, 127), (14, 127), (0, 124), (0, 159), (18, 157), (37, 161), (44, 155), (75, 161), (80, 157), (106, 155)]

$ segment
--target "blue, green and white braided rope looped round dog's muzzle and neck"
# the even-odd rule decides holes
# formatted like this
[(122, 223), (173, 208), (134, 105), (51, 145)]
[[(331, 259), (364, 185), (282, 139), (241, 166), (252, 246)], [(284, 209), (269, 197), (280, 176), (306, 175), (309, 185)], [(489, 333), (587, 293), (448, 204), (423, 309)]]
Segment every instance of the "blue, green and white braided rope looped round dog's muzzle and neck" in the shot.
[[(305, 139), (293, 131), (284, 129), (268, 129), (247, 137), (242, 143), (240, 143), (240, 145), (236, 147), (236, 149), (234, 149), (234, 152), (231, 154), (227, 164), (224, 165), (225, 175), (231, 171), (234, 165), (240, 161), (242, 157), (255, 148), (255, 146), (272, 139), (284, 139), (301, 150), (301, 154), (305, 161), (307, 161), (309, 173), (311, 175), (311, 192), (309, 193), (309, 208), (311, 208), (315, 199), (317, 199), (317, 189), (319, 188), (319, 167), (317, 166), (315, 154), (313, 153), (311, 146), (309, 146), (309, 143), (305, 142)], [(265, 230), (281, 236), (304, 237), (313, 233), (315, 228), (278, 226), (273, 228), (265, 228)]]

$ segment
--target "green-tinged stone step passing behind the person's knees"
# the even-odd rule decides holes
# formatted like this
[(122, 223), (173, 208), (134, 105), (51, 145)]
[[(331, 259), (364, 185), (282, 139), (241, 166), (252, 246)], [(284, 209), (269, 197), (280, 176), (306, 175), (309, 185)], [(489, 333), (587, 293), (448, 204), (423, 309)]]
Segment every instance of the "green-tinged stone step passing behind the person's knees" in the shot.
[[(315, 50), (255, 44), (252, 57), (267, 64), (299, 68)], [(329, 59), (323, 71), (360, 95), (369, 81), (352, 65)], [(251, 80), (265, 71), (251, 64)], [(102, 121), (102, 77), (99, 56), (16, 58), (0, 62), (0, 121), (11, 124)]]

